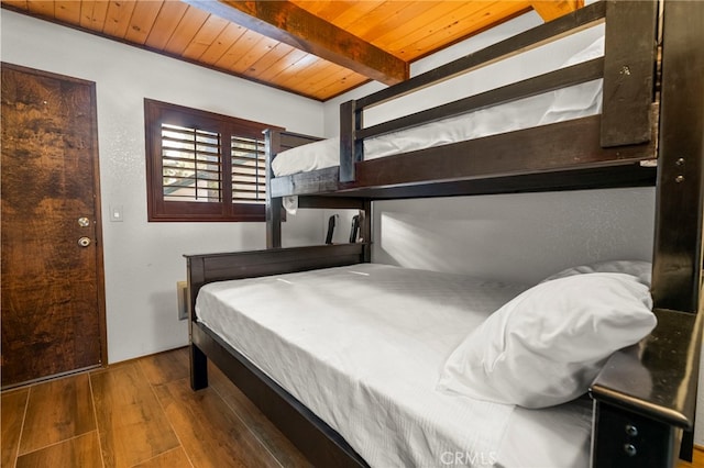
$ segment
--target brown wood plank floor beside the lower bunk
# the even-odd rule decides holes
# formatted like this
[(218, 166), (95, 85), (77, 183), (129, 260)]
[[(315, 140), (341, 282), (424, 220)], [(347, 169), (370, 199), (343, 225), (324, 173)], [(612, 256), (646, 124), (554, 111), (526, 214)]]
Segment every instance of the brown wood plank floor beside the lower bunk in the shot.
[(186, 348), (2, 394), (2, 467), (306, 467), (217, 368), (188, 385)]

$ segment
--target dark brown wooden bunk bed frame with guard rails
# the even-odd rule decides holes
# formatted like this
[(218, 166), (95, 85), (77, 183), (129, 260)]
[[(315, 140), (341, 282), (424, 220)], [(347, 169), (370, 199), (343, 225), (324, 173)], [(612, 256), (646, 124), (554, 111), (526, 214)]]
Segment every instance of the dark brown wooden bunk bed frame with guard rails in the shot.
[[(603, 57), (381, 124), (363, 124), (365, 110), (375, 105), (600, 22), (605, 23)], [(701, 2), (593, 3), (406, 82), (342, 104), (339, 165), (334, 166), (275, 176), (272, 165), (279, 154), (319, 138), (267, 132), (268, 248), (187, 256), (191, 387), (207, 386), (210, 359), (315, 465), (366, 466), (370, 460), (353, 448), (346, 434), (331, 427), (329, 415), (301, 403), (294, 397), (297, 389), (279, 385), (263, 370), (267, 363), (255, 363), (249, 352), (235, 349), (210, 326), (208, 320), (215, 319), (198, 316), (197, 309), (208, 308), (205, 299), (199, 299), (201, 290), (224, 288), (222, 281), (228, 280), (244, 280), (235, 283), (251, 282), (255, 289), (260, 283), (252, 281), (262, 279), (279, 287), (309, 281), (296, 276), (304, 272), (311, 274), (316, 281), (350, 272), (354, 275), (348, 276), (371, 275), (373, 271), (366, 268), (367, 264), (374, 265), (370, 264), (373, 239), (369, 221), (373, 200), (654, 186), (653, 258), (648, 272), (657, 325), (636, 345), (610, 354), (588, 386), (587, 457), (592, 466), (598, 467), (668, 467), (674, 466), (678, 456), (691, 459), (704, 313), (701, 24)], [(375, 159), (365, 157), (364, 143), (371, 138), (595, 79), (603, 79), (600, 114)], [(351, 208), (366, 213), (363, 241), (282, 248), (282, 201), (292, 196), (304, 208)], [(316, 277), (320, 269), (324, 272)], [(364, 289), (351, 288), (364, 293), (360, 292)], [(504, 291), (503, 300), (520, 292), (508, 289), (510, 293)], [(233, 291), (230, 296), (238, 297), (237, 291), (244, 290)], [(306, 300), (298, 298), (295, 304), (289, 301), (279, 308), (302, 316), (307, 312)], [(296, 315), (293, 316), (295, 324)], [(276, 322), (275, 319), (272, 327)], [(243, 322), (237, 326), (232, 332), (235, 335), (250, 334), (251, 328)], [(268, 337), (262, 339), (268, 343)], [(295, 354), (287, 348), (277, 349)], [(287, 357), (286, 363), (305, 361), (295, 356)], [(585, 401), (578, 398), (571, 403), (582, 405), (574, 411), (584, 414)], [(490, 459), (469, 458), (436, 459), (437, 465), (502, 465), (493, 453)]]

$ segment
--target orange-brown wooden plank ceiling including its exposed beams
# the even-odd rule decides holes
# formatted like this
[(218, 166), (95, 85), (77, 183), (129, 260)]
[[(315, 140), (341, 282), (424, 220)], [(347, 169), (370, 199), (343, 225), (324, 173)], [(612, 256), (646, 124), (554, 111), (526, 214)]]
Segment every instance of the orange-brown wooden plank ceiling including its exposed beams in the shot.
[(535, 9), (584, 0), (0, 0), (3, 8), (328, 100)]

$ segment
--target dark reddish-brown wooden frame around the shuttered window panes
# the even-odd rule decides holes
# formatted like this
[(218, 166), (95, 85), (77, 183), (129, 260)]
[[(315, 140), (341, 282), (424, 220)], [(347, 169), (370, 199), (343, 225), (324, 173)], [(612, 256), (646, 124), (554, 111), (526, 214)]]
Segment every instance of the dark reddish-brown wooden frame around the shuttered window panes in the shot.
[[(221, 200), (219, 202), (164, 200), (162, 124), (207, 130), (221, 135)], [(263, 141), (260, 122), (218, 114), (167, 102), (144, 99), (146, 143), (146, 194), (150, 222), (264, 222), (265, 203), (232, 200), (232, 136)], [(264, 168), (264, 170), (266, 170)]]

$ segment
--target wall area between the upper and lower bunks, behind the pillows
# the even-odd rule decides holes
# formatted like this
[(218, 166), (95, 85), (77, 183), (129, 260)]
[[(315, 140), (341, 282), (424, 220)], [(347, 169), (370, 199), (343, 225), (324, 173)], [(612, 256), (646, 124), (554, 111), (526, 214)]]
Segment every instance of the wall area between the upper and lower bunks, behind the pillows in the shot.
[(652, 189), (375, 203), (374, 261), (536, 283), (563, 268), (649, 260)]

